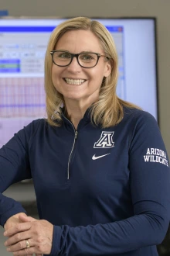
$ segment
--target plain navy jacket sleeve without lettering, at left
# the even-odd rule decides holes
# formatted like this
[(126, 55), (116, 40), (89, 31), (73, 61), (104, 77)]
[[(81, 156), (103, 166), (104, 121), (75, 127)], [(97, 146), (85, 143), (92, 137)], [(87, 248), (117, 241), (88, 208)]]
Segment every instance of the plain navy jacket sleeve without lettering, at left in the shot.
[(0, 149), (0, 224), (2, 226), (10, 216), (26, 213), (19, 202), (2, 195), (2, 192), (15, 182), (31, 178), (27, 139), (25, 129), (22, 129)]

